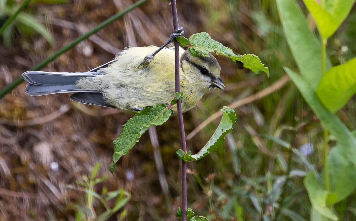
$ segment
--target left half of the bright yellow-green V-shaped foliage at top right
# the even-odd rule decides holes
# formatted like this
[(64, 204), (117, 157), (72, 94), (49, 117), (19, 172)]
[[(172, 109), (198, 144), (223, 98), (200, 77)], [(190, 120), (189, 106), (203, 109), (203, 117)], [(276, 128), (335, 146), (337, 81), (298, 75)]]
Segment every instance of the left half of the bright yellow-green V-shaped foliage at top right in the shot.
[(328, 39), (333, 35), (336, 29), (339, 27), (335, 21), (335, 18), (325, 9), (323, 9), (314, 0), (303, 0), (304, 4), (308, 7), (308, 10), (313, 15), (316, 23), (318, 23), (319, 32), (323, 38)]

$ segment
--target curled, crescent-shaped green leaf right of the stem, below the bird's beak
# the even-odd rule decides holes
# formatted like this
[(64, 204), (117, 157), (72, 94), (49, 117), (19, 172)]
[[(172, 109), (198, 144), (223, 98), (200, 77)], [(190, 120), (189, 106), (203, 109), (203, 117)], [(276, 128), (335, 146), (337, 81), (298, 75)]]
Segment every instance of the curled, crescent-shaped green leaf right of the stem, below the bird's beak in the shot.
[(235, 123), (236, 120), (236, 114), (233, 109), (230, 109), (228, 107), (223, 107), (221, 109), (223, 113), (223, 118), (221, 119), (221, 122), (218, 126), (218, 128), (215, 130), (213, 136), (211, 136), (210, 140), (208, 143), (199, 151), (199, 153), (195, 155), (191, 155), (192, 152), (188, 152), (187, 154), (184, 154), (182, 149), (179, 149), (177, 151), (177, 155), (180, 159), (184, 160), (185, 162), (188, 161), (198, 161), (201, 158), (205, 157), (209, 153), (215, 151), (218, 149), (223, 144), (223, 141), (225, 140), (226, 134), (230, 133), (232, 130), (232, 124)]

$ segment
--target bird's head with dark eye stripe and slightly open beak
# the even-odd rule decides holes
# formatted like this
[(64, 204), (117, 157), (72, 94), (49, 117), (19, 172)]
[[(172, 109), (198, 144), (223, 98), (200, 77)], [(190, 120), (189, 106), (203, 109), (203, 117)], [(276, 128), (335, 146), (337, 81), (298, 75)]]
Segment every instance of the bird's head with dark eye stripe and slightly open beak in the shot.
[(215, 87), (223, 90), (225, 87), (220, 79), (220, 65), (212, 54), (209, 55), (210, 57), (193, 57), (185, 50), (180, 60), (180, 66), (189, 83), (203, 93)]

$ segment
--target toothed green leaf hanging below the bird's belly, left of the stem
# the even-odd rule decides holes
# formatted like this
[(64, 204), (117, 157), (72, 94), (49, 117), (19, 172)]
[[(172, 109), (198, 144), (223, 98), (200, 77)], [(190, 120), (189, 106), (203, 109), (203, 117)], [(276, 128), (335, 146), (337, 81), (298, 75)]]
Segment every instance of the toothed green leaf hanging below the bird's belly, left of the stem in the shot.
[(156, 104), (153, 107), (147, 107), (137, 112), (122, 127), (120, 136), (114, 140), (113, 163), (109, 170), (114, 173), (115, 163), (123, 155), (129, 153), (129, 150), (138, 142), (141, 135), (145, 133), (152, 125), (162, 125), (171, 116), (171, 110), (167, 109), (166, 104)]

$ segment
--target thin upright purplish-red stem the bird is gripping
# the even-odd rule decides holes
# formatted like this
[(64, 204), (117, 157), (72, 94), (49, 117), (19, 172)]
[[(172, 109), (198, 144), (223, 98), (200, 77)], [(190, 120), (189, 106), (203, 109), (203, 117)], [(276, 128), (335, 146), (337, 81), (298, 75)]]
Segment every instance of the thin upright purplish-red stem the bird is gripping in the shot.
[[(178, 25), (178, 14), (176, 0), (171, 1), (172, 5), (172, 17), (173, 17), (173, 29), (176, 30)], [(175, 61), (175, 86), (176, 92), (180, 93), (180, 81), (179, 81), (179, 43), (174, 40), (174, 61)], [(182, 113), (182, 101), (179, 98), (177, 102), (178, 108), (178, 121), (180, 130), (180, 142), (184, 153), (187, 153), (187, 144), (185, 143), (185, 133), (183, 124)], [(187, 163), (182, 160), (182, 220), (187, 221)]]

